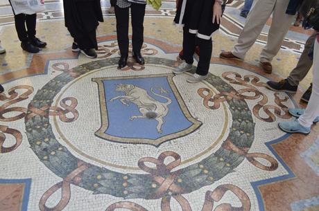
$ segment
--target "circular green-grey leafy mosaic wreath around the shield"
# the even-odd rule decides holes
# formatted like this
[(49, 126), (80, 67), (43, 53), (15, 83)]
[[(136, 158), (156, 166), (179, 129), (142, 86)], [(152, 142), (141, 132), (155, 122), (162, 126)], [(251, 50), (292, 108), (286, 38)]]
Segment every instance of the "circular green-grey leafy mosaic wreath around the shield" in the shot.
[[(170, 67), (175, 64), (175, 61), (171, 59), (158, 57), (145, 57), (145, 59), (146, 64)], [(117, 62), (118, 58), (101, 59), (64, 71), (37, 91), (33, 100), (28, 104), (28, 113), (32, 113), (34, 109), (51, 106), (55, 95), (76, 77), (103, 67), (116, 65)], [(230, 84), (212, 73), (209, 73), (206, 82), (212, 84), (219, 92), (235, 91)], [(82, 171), (80, 177), (71, 181), (71, 183), (86, 190), (91, 190), (94, 194), (110, 194), (125, 199), (160, 199), (166, 194), (187, 194), (205, 185), (212, 185), (223, 176), (233, 172), (233, 169), (244, 160), (245, 154), (239, 151), (245, 149), (248, 152), (248, 149), (250, 149), (254, 140), (255, 123), (245, 100), (233, 98), (228, 100), (227, 103), (232, 113), (232, 127), (229, 136), (223, 143), (223, 147), (199, 163), (178, 169), (175, 172), (171, 172), (171, 170), (178, 164), (172, 163), (173, 166), (169, 168), (164, 165), (164, 162), (162, 165), (157, 163), (157, 168), (147, 171), (146, 169), (150, 169), (147, 165), (144, 165), (144, 163), (147, 164), (147, 160), (139, 165), (139, 167), (146, 168), (144, 169), (146, 174), (122, 174), (85, 163), (58, 143), (47, 115), (35, 115), (32, 118), (26, 118), (26, 134), (31, 149), (41, 162), (64, 180), (67, 180), (69, 174), (78, 169), (78, 163), (81, 162), (85, 163), (87, 167)], [(239, 150), (229, 149), (225, 145), (232, 145)], [(162, 161), (164, 159), (165, 157), (162, 158)], [(178, 158), (175, 157), (175, 161), (177, 160)], [(171, 180), (170, 187), (166, 187), (164, 191), (158, 194), (158, 190), (163, 187), (162, 183), (166, 183), (167, 180)]]

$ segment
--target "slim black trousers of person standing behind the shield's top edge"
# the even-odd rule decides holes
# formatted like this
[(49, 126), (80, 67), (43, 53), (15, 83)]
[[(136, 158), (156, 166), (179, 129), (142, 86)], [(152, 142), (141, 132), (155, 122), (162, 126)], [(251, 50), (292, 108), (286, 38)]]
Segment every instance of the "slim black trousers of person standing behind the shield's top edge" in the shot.
[[(132, 46), (133, 52), (140, 53), (141, 46), (144, 42), (144, 15), (146, 4), (132, 3), (131, 6), (132, 18)], [(128, 55), (128, 21), (129, 8), (119, 8), (115, 6), (115, 16), (117, 17), (117, 42), (121, 55)]]

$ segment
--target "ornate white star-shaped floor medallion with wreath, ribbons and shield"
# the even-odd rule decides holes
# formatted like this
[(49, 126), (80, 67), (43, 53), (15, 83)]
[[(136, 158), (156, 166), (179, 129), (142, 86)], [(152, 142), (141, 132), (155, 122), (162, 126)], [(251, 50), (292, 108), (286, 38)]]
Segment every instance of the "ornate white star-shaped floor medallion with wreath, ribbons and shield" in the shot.
[(176, 54), (158, 46), (144, 45), (145, 66), (130, 60), (123, 70), (117, 43), (100, 46), (96, 60), (51, 60), (47, 75), (1, 95), (10, 125), (0, 129), (16, 139), (1, 153), (31, 147), (25, 155), (51, 181), (43, 190), (45, 178), (33, 180), (32, 208), (73, 210), (72, 197), (88, 197), (78, 210), (263, 210), (252, 184), (292, 175), (266, 143), (287, 137), (277, 122), (295, 105), (265, 77), (211, 64), (205, 81), (189, 84), (195, 66), (174, 75)]

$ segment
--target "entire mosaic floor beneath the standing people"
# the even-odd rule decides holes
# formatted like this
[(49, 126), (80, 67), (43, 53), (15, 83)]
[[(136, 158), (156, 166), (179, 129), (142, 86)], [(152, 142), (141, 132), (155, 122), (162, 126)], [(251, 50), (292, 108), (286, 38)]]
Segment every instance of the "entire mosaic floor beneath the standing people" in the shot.
[(173, 1), (147, 9), (146, 65), (130, 60), (121, 71), (108, 1), (97, 59), (71, 52), (62, 4), (46, 2), (37, 35), (48, 47), (31, 55), (0, 0), (1, 211), (319, 210), (319, 126), (308, 136), (277, 127), (291, 119), (288, 108), (305, 106), (311, 74), (296, 95), (265, 87), (288, 75), (311, 32), (291, 27), (271, 75), (258, 66), (268, 26), (245, 62), (219, 59), (245, 21), (243, 1), (234, 1), (214, 37), (209, 77), (188, 84), (190, 73), (172, 74), (182, 43)]

